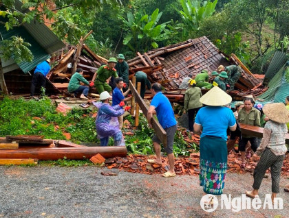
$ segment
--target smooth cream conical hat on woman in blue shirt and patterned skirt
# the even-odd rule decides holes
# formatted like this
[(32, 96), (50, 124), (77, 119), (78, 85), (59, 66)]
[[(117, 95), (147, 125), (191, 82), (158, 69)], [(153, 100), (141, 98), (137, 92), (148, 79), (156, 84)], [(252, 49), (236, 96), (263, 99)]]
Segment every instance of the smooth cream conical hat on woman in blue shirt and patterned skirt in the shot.
[(231, 103), (231, 101), (232, 97), (217, 86), (211, 88), (208, 93), (200, 98), (200, 102), (208, 106), (224, 106)]

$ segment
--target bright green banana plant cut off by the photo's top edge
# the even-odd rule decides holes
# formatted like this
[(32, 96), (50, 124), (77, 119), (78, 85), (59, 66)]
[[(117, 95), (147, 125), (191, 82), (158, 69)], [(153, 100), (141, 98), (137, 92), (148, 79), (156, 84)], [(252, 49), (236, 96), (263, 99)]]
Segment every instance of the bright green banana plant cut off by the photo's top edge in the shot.
[(217, 0), (211, 2), (204, 1), (200, 4), (200, 1), (194, 0), (180, 0), (182, 5), (182, 10), (177, 10), (182, 16), (182, 21), (186, 25), (188, 31), (197, 31), (199, 29), (200, 23), (213, 15), (215, 12), (215, 6), (217, 5)]

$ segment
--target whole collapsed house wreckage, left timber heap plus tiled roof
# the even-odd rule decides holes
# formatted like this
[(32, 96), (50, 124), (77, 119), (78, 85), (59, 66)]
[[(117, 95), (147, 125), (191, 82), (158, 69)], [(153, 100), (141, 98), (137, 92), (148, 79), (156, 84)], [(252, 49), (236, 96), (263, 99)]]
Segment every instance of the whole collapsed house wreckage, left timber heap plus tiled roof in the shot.
[[(137, 55), (136, 58), (127, 61), (130, 78), (137, 71), (144, 71), (150, 82), (158, 82), (164, 86), (164, 94), (172, 102), (183, 102), (185, 90), (178, 88), (182, 79), (189, 73), (195, 76), (203, 69), (209, 72), (215, 71), (221, 64), (224, 66), (237, 64), (242, 69), (242, 76), (235, 84), (237, 90), (230, 93), (235, 99), (242, 99), (242, 96), (252, 94), (252, 90), (255, 93), (262, 90), (259, 88), (262, 85), (260, 79), (250, 73), (234, 54), (226, 56), (219, 51), (206, 36), (189, 39), (144, 54), (137, 53)], [(69, 78), (75, 72), (76, 67), (84, 70), (85, 79), (94, 81), (99, 66), (106, 62), (105, 58), (96, 55), (87, 45), (79, 44), (77, 47), (72, 47), (47, 75), (54, 87), (53, 93), (65, 93)], [(95, 88), (90, 88), (89, 93), (96, 93)], [(146, 98), (150, 97), (147, 93)]]

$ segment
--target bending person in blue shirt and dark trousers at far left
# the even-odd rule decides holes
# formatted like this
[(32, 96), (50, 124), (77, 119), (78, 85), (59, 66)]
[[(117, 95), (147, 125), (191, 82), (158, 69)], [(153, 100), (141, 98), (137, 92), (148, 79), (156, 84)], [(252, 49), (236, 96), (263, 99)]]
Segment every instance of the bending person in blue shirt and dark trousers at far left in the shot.
[(36, 66), (34, 75), (32, 77), (32, 84), (30, 89), (30, 98), (38, 99), (34, 97), (35, 88), (39, 84), (41, 87), (46, 86), (46, 75), (50, 71), (50, 59), (47, 59)]

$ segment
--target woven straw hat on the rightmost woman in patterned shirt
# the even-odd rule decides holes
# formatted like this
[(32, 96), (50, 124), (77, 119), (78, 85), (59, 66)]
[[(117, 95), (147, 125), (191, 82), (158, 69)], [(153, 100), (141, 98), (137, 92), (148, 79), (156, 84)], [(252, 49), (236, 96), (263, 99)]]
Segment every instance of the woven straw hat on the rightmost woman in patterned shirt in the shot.
[(266, 104), (263, 107), (264, 114), (277, 123), (289, 123), (289, 111), (283, 103)]

